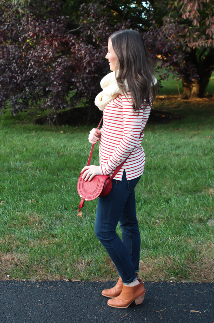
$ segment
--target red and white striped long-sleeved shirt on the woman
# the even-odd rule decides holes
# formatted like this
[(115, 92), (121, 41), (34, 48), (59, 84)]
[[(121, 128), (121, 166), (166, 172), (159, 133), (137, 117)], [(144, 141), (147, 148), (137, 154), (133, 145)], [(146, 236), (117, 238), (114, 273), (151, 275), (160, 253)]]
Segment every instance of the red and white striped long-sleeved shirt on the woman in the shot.
[(143, 110), (134, 112), (132, 108), (131, 92), (128, 97), (119, 94), (110, 101), (103, 111), (103, 127), (99, 144), (99, 163), (101, 175), (112, 175), (114, 170), (130, 154), (125, 164), (115, 175), (114, 179), (122, 180), (123, 171), (126, 170), (127, 180), (142, 175), (145, 164), (145, 153), (141, 146), (144, 134), (140, 132), (146, 125), (150, 113), (148, 105)]

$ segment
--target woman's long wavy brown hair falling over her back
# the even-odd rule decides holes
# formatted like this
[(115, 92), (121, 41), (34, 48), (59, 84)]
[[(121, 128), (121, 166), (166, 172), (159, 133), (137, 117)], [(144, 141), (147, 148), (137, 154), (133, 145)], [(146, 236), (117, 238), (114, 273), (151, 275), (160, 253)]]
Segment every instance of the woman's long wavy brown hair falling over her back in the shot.
[[(139, 112), (144, 100), (144, 105), (152, 105), (158, 86), (155, 84), (152, 61), (148, 58), (142, 36), (137, 30), (119, 30), (109, 39), (118, 57), (115, 71), (119, 89), (125, 94), (127, 79), (128, 88), (132, 94), (132, 107)], [(153, 95), (151, 94), (151, 87)], [(151, 100), (152, 98), (152, 100)]]

